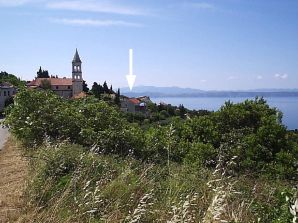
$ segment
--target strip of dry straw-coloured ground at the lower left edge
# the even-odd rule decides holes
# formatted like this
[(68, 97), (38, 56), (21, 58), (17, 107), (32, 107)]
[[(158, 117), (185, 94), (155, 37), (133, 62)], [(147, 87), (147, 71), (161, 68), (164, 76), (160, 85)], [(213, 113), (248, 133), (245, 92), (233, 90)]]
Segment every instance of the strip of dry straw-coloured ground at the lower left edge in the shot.
[(0, 223), (16, 222), (22, 209), (22, 196), (28, 164), (8, 139), (0, 150)]

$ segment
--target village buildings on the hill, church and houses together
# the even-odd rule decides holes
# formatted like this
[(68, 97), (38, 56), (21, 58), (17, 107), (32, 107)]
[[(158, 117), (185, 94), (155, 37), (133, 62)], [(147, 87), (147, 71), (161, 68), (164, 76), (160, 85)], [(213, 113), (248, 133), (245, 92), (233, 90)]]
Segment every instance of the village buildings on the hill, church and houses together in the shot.
[[(79, 99), (92, 95), (92, 90), (84, 88), (85, 81), (83, 79), (82, 60), (76, 49), (72, 60), (72, 76), (58, 77), (57, 75), (49, 75), (48, 71), (39, 69), (37, 76), (32, 81), (26, 82), (28, 89), (35, 90), (52, 90), (57, 95), (66, 99)], [(3, 112), (5, 105), (9, 104), (11, 99), (17, 93), (18, 87), (9, 82), (0, 84), (0, 112)], [(152, 103), (149, 97), (142, 96), (138, 98), (130, 98), (120, 95), (120, 91), (114, 92), (112, 89), (103, 91), (104, 98), (110, 100), (119, 100), (120, 110), (132, 114), (147, 114), (147, 104)], [(117, 95), (118, 94), (118, 95)]]

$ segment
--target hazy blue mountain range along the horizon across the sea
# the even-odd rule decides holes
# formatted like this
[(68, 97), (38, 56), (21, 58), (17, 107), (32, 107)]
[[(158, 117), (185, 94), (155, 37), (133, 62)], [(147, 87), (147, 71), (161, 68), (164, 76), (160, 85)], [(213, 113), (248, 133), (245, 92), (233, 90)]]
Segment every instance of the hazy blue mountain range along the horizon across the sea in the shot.
[(252, 89), (235, 91), (203, 91), (193, 88), (137, 86), (132, 91), (121, 88), (129, 97), (298, 97), (298, 89)]

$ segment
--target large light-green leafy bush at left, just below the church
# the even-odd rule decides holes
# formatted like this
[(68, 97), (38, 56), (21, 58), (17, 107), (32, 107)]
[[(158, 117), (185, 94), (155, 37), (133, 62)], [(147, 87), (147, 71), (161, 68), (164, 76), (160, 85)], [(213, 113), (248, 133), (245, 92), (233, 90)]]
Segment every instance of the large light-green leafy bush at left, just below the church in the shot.
[[(65, 100), (50, 91), (23, 90), (17, 94), (6, 123), (27, 146), (44, 140), (69, 140), (98, 151), (128, 154), (138, 149), (138, 127), (116, 108), (95, 98)], [(140, 137), (141, 139), (142, 137)]]

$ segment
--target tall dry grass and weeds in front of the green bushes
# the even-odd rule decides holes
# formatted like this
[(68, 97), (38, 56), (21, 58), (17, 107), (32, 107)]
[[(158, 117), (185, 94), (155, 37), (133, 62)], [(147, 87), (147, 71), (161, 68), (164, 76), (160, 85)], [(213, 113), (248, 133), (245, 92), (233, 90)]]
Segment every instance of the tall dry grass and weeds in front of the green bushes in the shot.
[[(204, 145), (201, 145), (204, 147)], [(200, 147), (200, 146), (199, 146)], [(201, 147), (201, 148), (202, 148)], [(68, 144), (31, 153), (24, 222), (291, 222), (290, 185)], [(170, 170), (170, 173), (169, 173)], [(218, 206), (220, 205), (220, 206)], [(218, 207), (217, 207), (218, 206)], [(210, 219), (211, 218), (211, 219)], [(206, 221), (206, 219), (209, 219)]]

